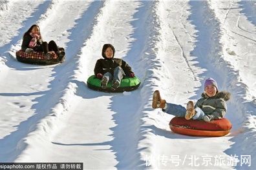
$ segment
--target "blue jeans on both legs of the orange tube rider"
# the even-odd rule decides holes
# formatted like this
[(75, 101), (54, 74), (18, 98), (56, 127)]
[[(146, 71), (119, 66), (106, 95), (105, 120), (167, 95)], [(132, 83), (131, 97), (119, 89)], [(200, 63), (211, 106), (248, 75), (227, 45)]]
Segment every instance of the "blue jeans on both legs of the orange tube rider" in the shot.
[[(184, 108), (181, 105), (172, 104), (172, 103), (166, 103), (167, 108), (162, 109), (165, 113), (168, 113), (169, 115), (175, 115), (176, 117), (185, 117), (186, 115), (186, 108)], [(193, 116), (194, 120), (202, 120), (202, 118), (206, 115), (204, 114), (204, 111), (200, 108), (195, 108), (196, 114)]]

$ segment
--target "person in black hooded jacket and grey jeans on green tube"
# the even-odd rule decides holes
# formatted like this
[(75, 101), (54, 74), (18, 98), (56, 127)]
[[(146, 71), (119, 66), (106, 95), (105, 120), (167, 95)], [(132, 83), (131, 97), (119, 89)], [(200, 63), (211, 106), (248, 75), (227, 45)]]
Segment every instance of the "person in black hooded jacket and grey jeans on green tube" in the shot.
[(101, 79), (103, 91), (107, 88), (109, 80), (112, 80), (112, 91), (118, 90), (124, 76), (135, 77), (133, 70), (122, 59), (114, 58), (114, 46), (104, 44), (101, 55), (103, 59), (98, 59), (94, 68), (94, 75)]

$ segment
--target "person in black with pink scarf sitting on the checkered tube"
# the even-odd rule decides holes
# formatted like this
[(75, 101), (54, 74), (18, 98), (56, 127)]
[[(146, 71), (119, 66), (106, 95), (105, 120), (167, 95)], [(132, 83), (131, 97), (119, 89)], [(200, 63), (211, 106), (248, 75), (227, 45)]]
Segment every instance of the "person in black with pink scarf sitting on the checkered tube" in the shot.
[[(17, 57), (23, 61), (27, 59), (28, 61), (32, 61), (32, 59), (45, 59), (47, 61), (54, 59), (56, 60), (56, 55), (59, 62), (63, 62), (65, 57), (65, 52), (63, 48), (59, 48), (54, 41), (50, 41), (49, 43), (43, 41), (39, 26), (33, 24), (30, 26), (27, 32), (23, 35), (23, 42), (21, 44), (21, 50), (26, 53), (35, 53), (37, 52), (38, 57), (29, 58), (30, 55), (25, 55), (25, 53), (19, 52)], [(54, 53), (56, 55), (54, 55)], [(22, 54), (23, 56), (20, 56)], [(41, 56), (43, 54), (43, 56)], [(37, 56), (35, 53), (35, 56)], [(24, 57), (25, 56), (25, 57)], [(34, 56), (34, 55), (32, 55)]]

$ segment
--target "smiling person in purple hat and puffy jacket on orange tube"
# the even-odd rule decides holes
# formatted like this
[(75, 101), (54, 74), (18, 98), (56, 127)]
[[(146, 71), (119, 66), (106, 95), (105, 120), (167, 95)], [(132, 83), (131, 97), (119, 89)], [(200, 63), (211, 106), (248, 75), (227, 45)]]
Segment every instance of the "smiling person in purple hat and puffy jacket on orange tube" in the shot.
[(218, 120), (226, 114), (227, 106), (226, 101), (229, 100), (230, 93), (218, 90), (217, 82), (212, 79), (206, 79), (204, 82), (204, 93), (197, 103), (193, 101), (187, 102), (186, 108), (167, 103), (161, 99), (160, 92), (156, 90), (153, 93), (152, 108), (162, 108), (165, 113), (175, 115), (176, 117), (184, 117), (186, 120), (204, 120), (209, 122), (211, 120)]

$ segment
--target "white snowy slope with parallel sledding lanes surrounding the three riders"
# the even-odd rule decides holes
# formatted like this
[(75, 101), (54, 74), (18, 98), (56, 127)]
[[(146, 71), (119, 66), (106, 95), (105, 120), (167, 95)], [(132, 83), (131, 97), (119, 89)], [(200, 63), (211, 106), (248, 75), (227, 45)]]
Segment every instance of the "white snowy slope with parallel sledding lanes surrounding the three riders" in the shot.
[[(0, 23), (0, 162), (256, 169), (256, 1), (4, 0)], [(32, 24), (65, 48), (65, 62), (16, 60)], [(87, 88), (105, 43), (133, 68), (137, 90)], [(153, 91), (186, 106), (208, 77), (231, 93), (231, 133), (173, 133), (173, 115), (151, 108)]]

